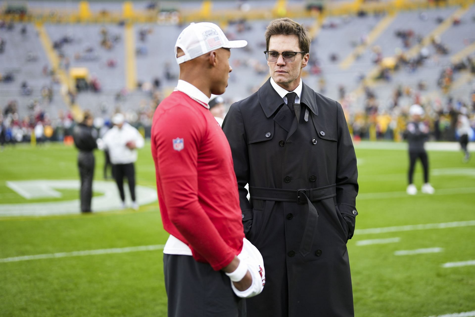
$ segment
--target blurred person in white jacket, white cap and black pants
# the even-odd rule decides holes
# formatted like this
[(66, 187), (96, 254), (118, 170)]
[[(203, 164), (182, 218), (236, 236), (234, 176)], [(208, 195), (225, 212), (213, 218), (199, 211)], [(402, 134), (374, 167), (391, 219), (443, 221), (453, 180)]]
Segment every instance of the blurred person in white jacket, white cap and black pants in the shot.
[(130, 196), (132, 198), (132, 208), (138, 210), (139, 206), (135, 199), (135, 166), (137, 161), (137, 150), (143, 147), (142, 135), (132, 125), (125, 122), (123, 114), (116, 114), (112, 118), (114, 127), (107, 131), (98, 142), (99, 148), (109, 151), (113, 164), (113, 174), (115, 183), (119, 188), (122, 199), (122, 207), (125, 208), (125, 195), (123, 191), (123, 178), (126, 177), (129, 183)]

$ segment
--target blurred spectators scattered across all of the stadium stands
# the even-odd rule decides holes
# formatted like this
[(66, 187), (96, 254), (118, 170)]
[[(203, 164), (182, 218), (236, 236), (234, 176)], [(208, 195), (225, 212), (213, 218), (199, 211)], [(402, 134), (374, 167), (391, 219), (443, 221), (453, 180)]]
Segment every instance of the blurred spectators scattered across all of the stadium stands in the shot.
[[(152, 6), (151, 6), (152, 8)], [(238, 10), (249, 10), (246, 1), (238, 1)], [(153, 8), (152, 8), (153, 10)], [(364, 14), (359, 17), (364, 18)], [(351, 19), (358, 19), (343, 17), (341, 21), (327, 20), (323, 25), (323, 29), (338, 29)], [(420, 12), (418, 19), (427, 20), (428, 15), (425, 12)], [(437, 17), (436, 23), (442, 23), (444, 18)], [(472, 23), (475, 20), (471, 21)], [(466, 23), (456, 18), (452, 21), (454, 25)], [(470, 22), (468, 22), (470, 23)], [(248, 22), (244, 19), (236, 19), (228, 21), (227, 36), (230, 40), (241, 38), (246, 32), (255, 31), (256, 24)], [(5, 31), (19, 31), (19, 36), (27, 36), (28, 28), (25, 25), (17, 25), (13, 23), (5, 23), (0, 21), (0, 29)], [(152, 27), (142, 27), (137, 29), (137, 46), (136, 53), (138, 56), (146, 55), (147, 44), (149, 36), (153, 33)], [(261, 30), (257, 30), (261, 31)], [(70, 55), (66, 54), (66, 46), (81, 39), (74, 38), (67, 32), (59, 38), (53, 39), (53, 48), (59, 57), (59, 67), (68, 71), (71, 67), (72, 61), (98, 61), (101, 58), (101, 51), (113, 51), (117, 45), (123, 45), (121, 34), (111, 32), (106, 27), (98, 28), (99, 41), (92, 45), (87, 45), (80, 51), (72, 52)], [(366, 31), (365, 31), (366, 32)], [(412, 48), (421, 43), (423, 36), (418, 34), (415, 29), (398, 29), (394, 33), (394, 39), (400, 41), (401, 48)], [(352, 46), (365, 45), (367, 42), (367, 35), (362, 33), (359, 38), (348, 39)], [(466, 43), (469, 45), (470, 43)], [(0, 34), (0, 54), (5, 50), (6, 41), (2, 39)], [(245, 56), (237, 56), (232, 59), (232, 67), (235, 69), (245, 68), (250, 69), (256, 78), (262, 78), (268, 73), (268, 67), (264, 58), (258, 58), (258, 52), (266, 48), (264, 38), (260, 42), (250, 41), (243, 50), (248, 53)], [(338, 85), (337, 99), (345, 109), (345, 114), (351, 129), (356, 139), (390, 139), (401, 140), (401, 133), (405, 129), (408, 120), (408, 109), (412, 104), (420, 104), (425, 109), (424, 120), (431, 127), (431, 134), (434, 140), (456, 140), (456, 122), (457, 115), (466, 111), (467, 117), (470, 120), (472, 127), (475, 127), (474, 108), (475, 108), (475, 86), (469, 96), (450, 97), (451, 87), (454, 79), (457, 79), (459, 73), (466, 72), (475, 74), (475, 56), (468, 56), (459, 61), (451, 63), (444, 67), (437, 60), (440, 56), (447, 55), (450, 49), (441, 41), (440, 38), (435, 37), (426, 48), (421, 48), (414, 56), (409, 56), (401, 49), (398, 49), (391, 58), (384, 58), (388, 52), (384, 52), (379, 46), (370, 48), (371, 62), (378, 65), (380, 72), (377, 74), (376, 80), (391, 82), (392, 75), (395, 71), (404, 70), (409, 72), (417, 72), (420, 67), (439, 66), (441, 71), (438, 78), (428, 78), (427, 80), (437, 81), (444, 93), (444, 97), (428, 96), (427, 87), (428, 82), (421, 80), (417, 86), (405, 86), (391, 84), (396, 86), (389, 100), (382, 100), (381, 96), (375, 89), (370, 86), (364, 86), (364, 107), (361, 107), (361, 101), (357, 100), (348, 91), (348, 83), (341, 83)], [(327, 93), (327, 82), (325, 77), (325, 66), (327, 63), (337, 63), (340, 61), (339, 52), (335, 51), (329, 56), (317, 56), (318, 49), (312, 49), (311, 57), (308, 67), (304, 68), (303, 77), (317, 77), (316, 87), (312, 87), (315, 91), (322, 94)], [(394, 53), (394, 52), (391, 52)], [(359, 57), (356, 57), (357, 59)], [(28, 51), (27, 63), (34, 63), (38, 61), (38, 53), (34, 50)], [(116, 67), (120, 61), (118, 58), (107, 58), (101, 60), (104, 67)], [(3, 71), (1, 69), (0, 71)], [(150, 126), (152, 116), (156, 105), (163, 99), (166, 87), (173, 85), (178, 79), (176, 67), (174, 68), (170, 63), (164, 62), (160, 70), (160, 74), (154, 74), (149, 81), (137, 82), (137, 91), (134, 94), (140, 93), (139, 99), (135, 98), (133, 105), (131, 105), (131, 92), (126, 88), (118, 89), (112, 94), (114, 96), (114, 105), (107, 105), (105, 102), (98, 102), (97, 105), (89, 105), (95, 115), (95, 128), (100, 132), (101, 129), (110, 127), (110, 118), (114, 113), (121, 112), (125, 115), (125, 119), (131, 125), (142, 130), (143, 134), (148, 137), (150, 135)], [(52, 110), (48, 107), (50, 103), (58, 98), (60, 88), (58, 86), (60, 80), (57, 72), (49, 65), (42, 67), (42, 75), (47, 80), (47, 83), (40, 86), (40, 97), (38, 96), (38, 89), (30, 85), (28, 80), (20, 80), (19, 96), (30, 96), (33, 101), (29, 101), (28, 105), (19, 105), (18, 100), (12, 98), (6, 104), (0, 104), (0, 141), (2, 143), (16, 143), (16, 142), (30, 142), (31, 136), (35, 134), (35, 139), (38, 142), (44, 140), (63, 141), (68, 139), (71, 135), (72, 128), (75, 125), (73, 115), (69, 111)], [(15, 81), (14, 72), (0, 73), (0, 81), (9, 83)], [(357, 80), (365, 83), (365, 74), (361, 73)], [(232, 85), (249, 85), (248, 93), (254, 93), (262, 84), (260, 80), (250, 81), (246, 83), (237, 82), (236, 77), (231, 77), (234, 81)], [(304, 79), (305, 80), (305, 79)], [(97, 94), (104, 94), (104, 89), (101, 83), (101, 78), (95, 74), (84, 79), (76, 81), (76, 89), (71, 89), (67, 92), (71, 104), (74, 104), (77, 94), (84, 91), (91, 91)], [(105, 92), (111, 94), (111, 92)], [(245, 96), (242, 96), (245, 97)], [(136, 100), (140, 100), (137, 102)], [(228, 107), (234, 99), (224, 100), (224, 104)], [(131, 109), (127, 109), (131, 108)], [(46, 109), (46, 110), (45, 110)], [(360, 110), (358, 110), (360, 109)], [(464, 110), (465, 109), (465, 110)], [(52, 113), (52, 112), (55, 113)], [(58, 111), (58, 112), (57, 112)], [(57, 113), (56, 113), (57, 112)]]

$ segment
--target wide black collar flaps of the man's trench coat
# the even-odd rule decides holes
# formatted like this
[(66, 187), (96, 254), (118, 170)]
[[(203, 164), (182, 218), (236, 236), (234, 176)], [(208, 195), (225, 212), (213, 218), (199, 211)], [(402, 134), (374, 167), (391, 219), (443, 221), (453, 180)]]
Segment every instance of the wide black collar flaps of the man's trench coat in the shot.
[[(303, 87), (302, 95), (300, 96), (300, 103), (307, 106), (314, 115), (318, 115), (318, 107), (315, 101), (314, 91), (309, 86), (305, 85), (305, 83), (302, 84)], [(277, 94), (274, 87), (272, 87), (270, 77), (257, 91), (257, 98), (267, 118), (273, 115), (280, 106), (284, 105), (284, 99), (282, 99), (282, 97)]]

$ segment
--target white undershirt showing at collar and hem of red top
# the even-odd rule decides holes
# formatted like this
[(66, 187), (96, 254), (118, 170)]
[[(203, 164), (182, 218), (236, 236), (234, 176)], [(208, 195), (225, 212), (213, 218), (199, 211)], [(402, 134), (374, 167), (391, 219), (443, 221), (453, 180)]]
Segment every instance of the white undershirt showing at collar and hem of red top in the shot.
[[(178, 80), (178, 84), (175, 90), (181, 91), (182, 93), (187, 94), (190, 98), (198, 101), (201, 106), (209, 109), (208, 103), (209, 98), (197, 87), (191, 85), (189, 82), (184, 80)], [(170, 235), (165, 247), (163, 248), (163, 253), (165, 254), (176, 254), (176, 255), (192, 255), (191, 249), (180, 239)]]

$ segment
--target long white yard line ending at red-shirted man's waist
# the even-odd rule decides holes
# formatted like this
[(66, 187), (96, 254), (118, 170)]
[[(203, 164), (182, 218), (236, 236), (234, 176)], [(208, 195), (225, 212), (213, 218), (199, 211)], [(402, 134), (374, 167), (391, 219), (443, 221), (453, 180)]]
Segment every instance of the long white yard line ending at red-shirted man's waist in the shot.
[(38, 259), (56, 259), (56, 258), (67, 258), (67, 257), (79, 257), (79, 256), (86, 256), (86, 255), (99, 255), (99, 254), (111, 254), (111, 253), (152, 251), (152, 250), (162, 250), (163, 247), (164, 247), (163, 244), (156, 244), (156, 245), (144, 245), (144, 246), (126, 247), (126, 248), (113, 248), (113, 249), (84, 250), (84, 251), (73, 251), (73, 252), (59, 252), (59, 253), (48, 253), (48, 254), (24, 255), (24, 256), (21, 256), (21, 257), (3, 258), (3, 259), (0, 259), (0, 263), (2, 263), (2, 262), (5, 263), (5, 262), (38, 260)]

